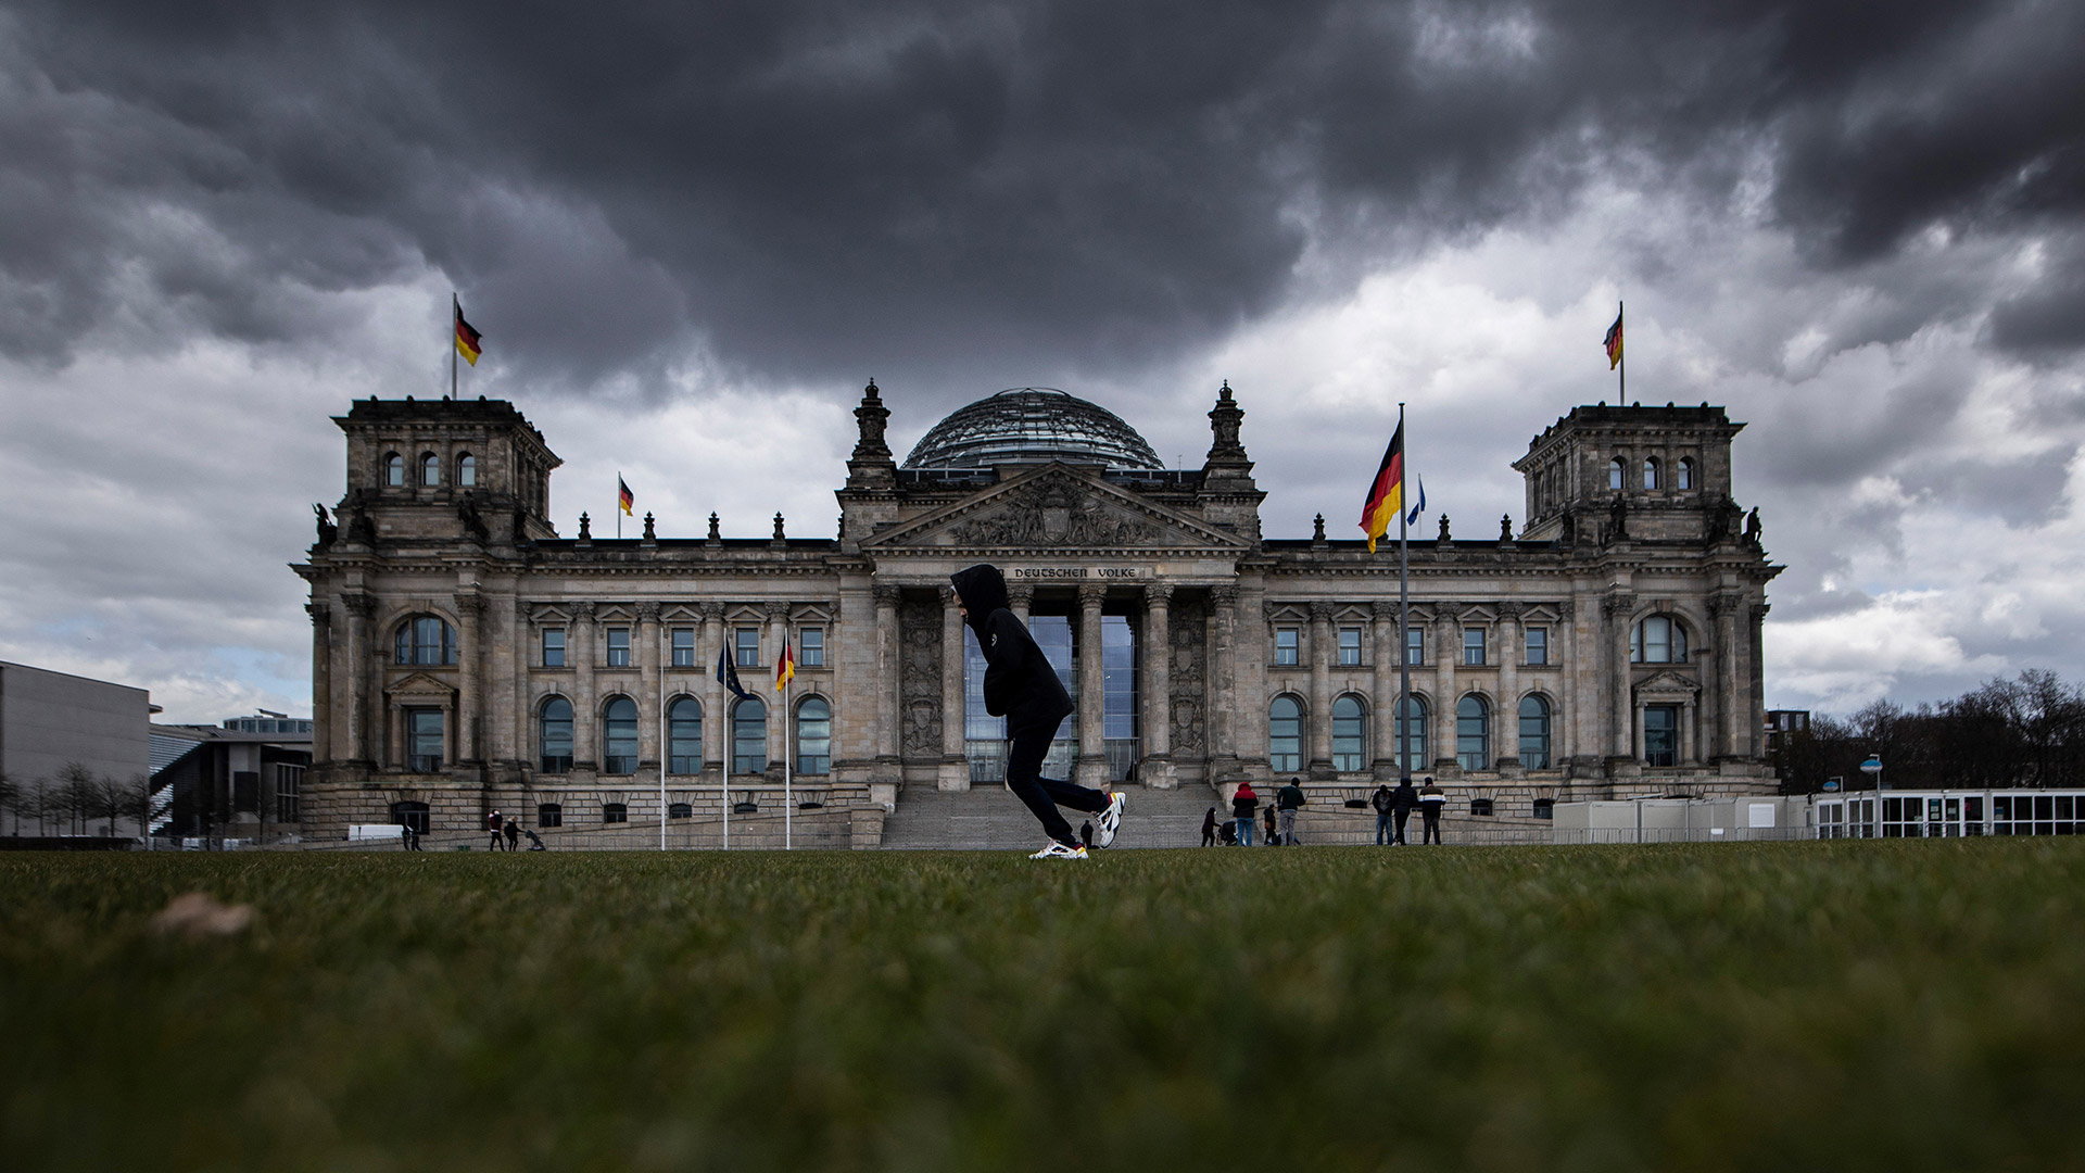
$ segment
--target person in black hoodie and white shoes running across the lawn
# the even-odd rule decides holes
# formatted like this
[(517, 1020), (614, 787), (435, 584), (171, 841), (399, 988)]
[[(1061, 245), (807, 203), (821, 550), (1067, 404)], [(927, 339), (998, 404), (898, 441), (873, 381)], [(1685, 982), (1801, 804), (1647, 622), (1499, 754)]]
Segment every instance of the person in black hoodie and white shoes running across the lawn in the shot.
[(1049, 743), (1063, 718), (1072, 716), (1072, 695), (1028, 635), (1028, 624), (1007, 607), (1007, 580), (997, 566), (980, 561), (957, 570), (949, 580), (955, 582), (963, 622), (984, 651), (984, 712), (1007, 718), (1007, 789), (1034, 812), (1049, 835), (1049, 845), (1030, 860), (1084, 860), (1084, 843), (1057, 808), (1095, 814), (1095, 843), (1107, 847), (1122, 827), (1124, 795), (1042, 776)]

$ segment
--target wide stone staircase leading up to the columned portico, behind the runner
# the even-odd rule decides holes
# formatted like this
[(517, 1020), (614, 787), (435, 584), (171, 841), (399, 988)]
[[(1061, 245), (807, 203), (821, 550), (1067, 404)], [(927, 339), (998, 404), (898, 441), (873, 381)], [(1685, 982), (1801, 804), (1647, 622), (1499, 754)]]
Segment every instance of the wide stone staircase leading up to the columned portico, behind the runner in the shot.
[[(1172, 791), (1122, 787), (1128, 806), (1122, 833), (1111, 849), (1124, 847), (1195, 847), (1201, 843), (1201, 818), (1211, 806), (1222, 806), (1216, 791), (1201, 783)], [(1078, 831), (1082, 814), (1063, 812)], [(1218, 810), (1218, 818), (1222, 818)], [(970, 852), (1034, 852), (1042, 845), (1042, 829), (1022, 799), (1001, 785), (970, 791), (936, 791), (907, 787), (899, 806), (884, 816), (886, 849), (970, 849)]]

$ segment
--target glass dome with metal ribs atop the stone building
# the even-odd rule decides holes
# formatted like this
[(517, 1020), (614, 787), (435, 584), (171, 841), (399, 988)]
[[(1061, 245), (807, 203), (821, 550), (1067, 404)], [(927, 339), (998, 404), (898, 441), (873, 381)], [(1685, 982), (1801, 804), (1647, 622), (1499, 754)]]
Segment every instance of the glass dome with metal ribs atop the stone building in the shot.
[(1120, 415), (1051, 386), (1017, 386), (955, 409), (913, 447), (905, 468), (992, 468), (1053, 459), (1166, 468)]

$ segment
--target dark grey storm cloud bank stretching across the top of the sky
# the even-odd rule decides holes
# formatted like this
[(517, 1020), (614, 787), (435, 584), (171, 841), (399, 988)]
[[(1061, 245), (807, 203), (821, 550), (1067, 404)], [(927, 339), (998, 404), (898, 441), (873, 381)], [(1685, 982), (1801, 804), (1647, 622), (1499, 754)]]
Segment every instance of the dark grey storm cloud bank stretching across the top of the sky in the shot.
[[(432, 263), (575, 382), (1107, 369), (1366, 257), (1772, 161), (1816, 265), (2068, 238), (2075, 4), (23, 4), (0, 346), (286, 340)], [(1643, 259), (1660, 263), (1660, 259)], [(1670, 261), (1666, 261), (1670, 263)], [(2052, 267), (1991, 330), (2079, 342)], [(2070, 301), (2066, 301), (2070, 298)], [(1970, 313), (1972, 307), (1941, 307)], [(496, 324), (496, 326), (492, 326)]]

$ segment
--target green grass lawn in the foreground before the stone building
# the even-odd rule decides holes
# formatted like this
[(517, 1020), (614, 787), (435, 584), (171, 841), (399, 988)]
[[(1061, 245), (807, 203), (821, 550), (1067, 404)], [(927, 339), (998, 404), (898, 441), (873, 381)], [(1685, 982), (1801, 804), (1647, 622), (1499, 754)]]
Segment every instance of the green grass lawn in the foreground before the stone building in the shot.
[[(0, 856), (10, 1169), (2079, 1169), (2085, 841)], [(156, 935), (169, 897), (259, 908)]]

